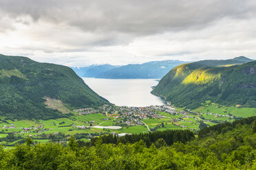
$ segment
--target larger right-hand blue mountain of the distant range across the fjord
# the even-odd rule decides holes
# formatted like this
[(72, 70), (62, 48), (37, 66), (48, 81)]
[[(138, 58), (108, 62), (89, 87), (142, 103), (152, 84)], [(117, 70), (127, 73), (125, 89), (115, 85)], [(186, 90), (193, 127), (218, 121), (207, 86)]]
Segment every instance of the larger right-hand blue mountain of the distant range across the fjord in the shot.
[(128, 64), (111, 69), (98, 75), (97, 78), (107, 79), (148, 79), (162, 78), (168, 71), (185, 62), (175, 60), (146, 62), (144, 64)]

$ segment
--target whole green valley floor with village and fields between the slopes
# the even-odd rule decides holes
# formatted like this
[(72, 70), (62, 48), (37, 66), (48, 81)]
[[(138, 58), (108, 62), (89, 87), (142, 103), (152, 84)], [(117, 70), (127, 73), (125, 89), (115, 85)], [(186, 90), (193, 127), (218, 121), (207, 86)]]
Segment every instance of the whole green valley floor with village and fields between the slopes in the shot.
[(73, 110), (74, 116), (50, 120), (11, 120), (0, 118), (0, 143), (12, 147), (31, 136), (36, 143), (61, 141), (70, 136), (88, 141), (103, 134), (139, 134), (156, 130), (192, 130), (231, 122), (256, 114), (256, 108), (226, 107), (206, 101), (197, 110), (167, 106), (100, 106)]

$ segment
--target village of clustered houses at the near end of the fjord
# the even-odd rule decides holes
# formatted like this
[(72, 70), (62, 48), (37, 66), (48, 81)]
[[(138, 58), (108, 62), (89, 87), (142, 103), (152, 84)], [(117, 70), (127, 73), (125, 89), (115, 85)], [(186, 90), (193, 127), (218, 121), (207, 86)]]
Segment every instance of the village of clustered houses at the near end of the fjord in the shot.
[[(222, 115), (222, 114), (215, 114), (208, 112), (206, 114), (213, 115), (212, 119), (205, 119), (204, 114), (199, 112), (193, 112), (191, 110), (177, 110), (170, 103), (164, 106), (147, 106), (147, 107), (128, 107), (128, 106), (110, 106), (104, 105), (98, 108), (82, 108), (78, 110), (74, 110), (78, 112), (78, 114), (95, 114), (95, 113), (102, 113), (105, 114), (107, 117), (114, 118), (115, 124), (114, 125), (121, 125), (121, 126), (134, 126), (134, 125), (147, 125), (143, 120), (147, 119), (170, 119), (173, 125), (179, 127), (187, 127), (186, 125), (180, 125), (179, 122), (188, 122), (193, 123), (192, 120), (195, 122), (200, 123), (200, 121), (205, 121), (209, 123), (216, 123), (215, 118), (220, 117), (228, 117), (227, 121), (231, 119), (235, 119), (235, 116), (230, 114)], [(163, 114), (164, 113), (164, 114)], [(173, 116), (173, 117), (170, 117)], [(176, 116), (176, 117), (174, 117)], [(106, 118), (103, 121), (108, 121), (110, 119)], [(221, 122), (221, 121), (220, 121)], [(220, 123), (218, 122), (218, 123)], [(79, 126), (76, 126), (79, 127)], [(89, 128), (85, 126), (81, 126), (81, 128)], [(198, 130), (190, 128), (190, 130)]]

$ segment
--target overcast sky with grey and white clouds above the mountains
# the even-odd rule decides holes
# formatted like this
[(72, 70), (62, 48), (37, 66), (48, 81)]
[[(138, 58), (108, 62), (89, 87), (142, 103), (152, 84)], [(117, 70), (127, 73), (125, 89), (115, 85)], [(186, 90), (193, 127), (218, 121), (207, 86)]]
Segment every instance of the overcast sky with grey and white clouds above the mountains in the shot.
[(255, 0), (0, 0), (0, 53), (67, 66), (256, 59)]

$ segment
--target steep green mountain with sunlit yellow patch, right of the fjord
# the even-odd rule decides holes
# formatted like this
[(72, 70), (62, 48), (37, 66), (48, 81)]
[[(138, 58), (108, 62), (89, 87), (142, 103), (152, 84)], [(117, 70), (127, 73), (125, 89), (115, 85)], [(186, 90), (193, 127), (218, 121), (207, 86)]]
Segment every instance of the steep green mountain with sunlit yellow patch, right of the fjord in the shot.
[(182, 64), (165, 75), (151, 93), (180, 107), (197, 108), (206, 100), (255, 107), (256, 62), (250, 61), (239, 57)]

